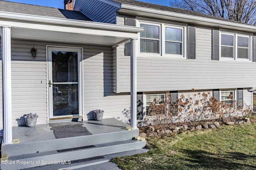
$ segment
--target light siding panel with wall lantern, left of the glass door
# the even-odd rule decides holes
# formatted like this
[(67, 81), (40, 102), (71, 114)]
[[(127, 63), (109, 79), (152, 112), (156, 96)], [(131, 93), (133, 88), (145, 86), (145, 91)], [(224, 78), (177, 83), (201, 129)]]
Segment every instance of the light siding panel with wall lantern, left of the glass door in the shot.
[[(12, 125), (24, 125), (22, 116), (39, 115), (37, 124), (47, 123), (46, 45), (12, 39)], [(33, 59), (30, 49), (37, 49)]]

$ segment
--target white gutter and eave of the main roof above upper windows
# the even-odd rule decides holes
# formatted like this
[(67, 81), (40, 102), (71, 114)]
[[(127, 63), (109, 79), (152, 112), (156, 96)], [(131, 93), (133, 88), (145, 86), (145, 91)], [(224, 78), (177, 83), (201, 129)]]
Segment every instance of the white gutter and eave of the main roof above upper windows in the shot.
[(127, 4), (122, 4), (121, 9), (118, 10), (118, 12), (135, 15), (135, 16), (157, 18), (161, 20), (190, 23), (193, 25), (203, 25), (207, 27), (214, 27), (214, 28), (216, 27), (216, 28), (223, 28), (223, 29), (234, 29), (239, 31), (248, 31), (252, 33), (256, 32), (256, 26), (254, 25), (216, 20), (212, 18), (204, 18), (199, 16), (192, 16), (187, 14), (180, 14), (175, 12), (168, 12), (163, 10), (156, 10), (152, 8), (145, 8), (145, 7), (133, 6), (133, 5), (127, 5)]

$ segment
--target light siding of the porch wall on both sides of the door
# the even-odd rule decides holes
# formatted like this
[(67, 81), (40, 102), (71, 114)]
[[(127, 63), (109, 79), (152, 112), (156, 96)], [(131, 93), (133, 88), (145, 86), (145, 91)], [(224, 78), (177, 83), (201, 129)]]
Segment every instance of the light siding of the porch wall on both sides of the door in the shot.
[[(92, 119), (92, 110), (94, 109), (102, 109), (104, 118), (112, 118), (120, 117), (122, 111), (130, 107), (129, 93), (116, 94), (112, 92), (111, 47), (12, 39), (13, 126), (18, 126), (20, 118), (27, 113), (39, 115), (37, 124), (47, 123), (46, 45), (82, 47), (84, 49), (84, 120)], [(35, 59), (30, 53), (33, 46), (37, 49)], [(2, 79), (1, 75), (0, 80)], [(0, 86), (0, 112), (2, 112), (2, 84)], [(2, 128), (2, 116), (0, 116), (0, 128)]]

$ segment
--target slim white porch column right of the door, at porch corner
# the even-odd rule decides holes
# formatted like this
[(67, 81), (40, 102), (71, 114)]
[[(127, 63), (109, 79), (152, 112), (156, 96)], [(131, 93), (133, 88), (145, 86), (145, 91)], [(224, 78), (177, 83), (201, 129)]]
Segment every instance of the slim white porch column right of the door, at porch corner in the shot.
[(136, 40), (131, 39), (131, 126), (137, 128), (137, 57)]

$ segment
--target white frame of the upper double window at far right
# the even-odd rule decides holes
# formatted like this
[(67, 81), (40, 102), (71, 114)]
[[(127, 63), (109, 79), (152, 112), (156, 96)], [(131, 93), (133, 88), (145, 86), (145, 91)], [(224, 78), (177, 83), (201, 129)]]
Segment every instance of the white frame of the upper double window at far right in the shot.
[[(221, 57), (221, 35), (233, 35), (234, 36), (234, 56), (233, 58), (229, 58), (229, 57)], [(237, 57), (237, 39), (239, 37), (248, 37), (249, 38), (249, 57), (248, 59), (242, 59)], [(220, 56), (220, 60), (229, 60), (229, 61), (249, 61), (252, 62), (252, 34), (248, 34), (248, 33), (241, 33), (241, 32), (236, 32), (236, 31), (226, 31), (226, 30), (220, 30), (220, 34), (219, 34), (219, 56)], [(226, 46), (227, 47), (227, 46)]]

